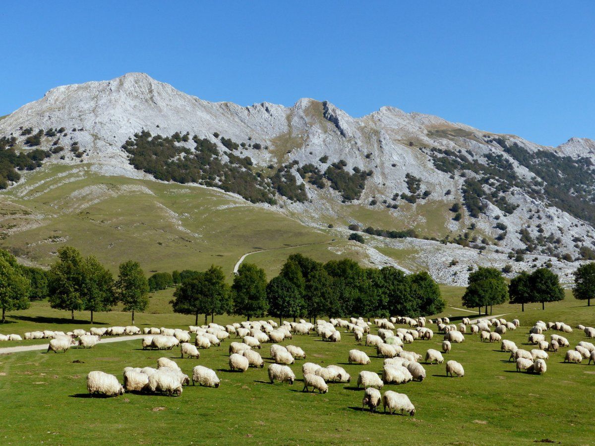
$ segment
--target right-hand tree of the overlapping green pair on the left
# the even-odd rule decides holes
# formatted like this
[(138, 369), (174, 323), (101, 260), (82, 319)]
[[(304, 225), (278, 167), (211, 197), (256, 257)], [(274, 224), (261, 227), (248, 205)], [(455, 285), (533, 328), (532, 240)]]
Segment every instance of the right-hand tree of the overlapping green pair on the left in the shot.
[(93, 312), (109, 311), (115, 304), (114, 278), (95, 256), (84, 259), (83, 271), (84, 310), (91, 312), (93, 323)]

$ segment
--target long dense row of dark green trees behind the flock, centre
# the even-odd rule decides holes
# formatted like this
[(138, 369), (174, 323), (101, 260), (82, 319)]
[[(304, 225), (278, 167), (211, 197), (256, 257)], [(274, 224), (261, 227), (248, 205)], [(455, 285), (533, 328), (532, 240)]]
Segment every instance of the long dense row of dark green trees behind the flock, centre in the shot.
[(195, 316), (223, 313), (247, 319), (317, 318), (320, 315), (386, 316), (440, 313), (440, 288), (426, 272), (405, 275), (393, 267), (362, 268), (350, 259), (327, 263), (295, 254), (277, 277), (267, 282), (262, 268), (243, 263), (227, 285), (223, 270), (185, 274), (171, 301), (174, 312)]

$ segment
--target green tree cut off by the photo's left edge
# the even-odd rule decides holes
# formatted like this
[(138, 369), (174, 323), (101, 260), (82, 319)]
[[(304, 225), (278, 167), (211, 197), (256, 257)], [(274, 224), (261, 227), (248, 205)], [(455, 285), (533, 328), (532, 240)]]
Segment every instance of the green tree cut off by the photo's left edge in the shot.
[(0, 306), (2, 323), (5, 313), (29, 308), (30, 282), (21, 271), (17, 259), (5, 250), (0, 250)]

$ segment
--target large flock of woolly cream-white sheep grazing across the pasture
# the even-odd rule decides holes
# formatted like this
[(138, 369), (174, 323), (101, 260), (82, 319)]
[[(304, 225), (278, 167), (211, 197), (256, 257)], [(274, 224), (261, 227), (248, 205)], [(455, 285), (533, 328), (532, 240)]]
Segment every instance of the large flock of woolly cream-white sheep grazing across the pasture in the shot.
[[(434, 331), (429, 327), (436, 325), (437, 332), (443, 336), (441, 350), (429, 348), (425, 356), (414, 351), (405, 350), (407, 344), (415, 340), (431, 340)], [(409, 325), (409, 328), (395, 328), (396, 324)], [(428, 325), (428, 326), (427, 326)], [(465, 341), (465, 334), (478, 334), (481, 341), (490, 343), (500, 342), (500, 350), (511, 353), (510, 360), (516, 363), (516, 370), (530, 373), (543, 374), (547, 370), (546, 361), (549, 359), (548, 351), (556, 352), (559, 347), (569, 347), (568, 340), (559, 334), (551, 334), (550, 341), (546, 341), (544, 332), (559, 331), (572, 332), (572, 328), (562, 322), (538, 321), (530, 329), (528, 343), (536, 345), (531, 351), (518, 348), (511, 340), (502, 339), (507, 331), (513, 331), (520, 325), (518, 319), (507, 322), (505, 319), (478, 319), (471, 323), (468, 318), (463, 318), (458, 325), (450, 323), (448, 318), (431, 319), (397, 317), (390, 319), (375, 319), (366, 322), (362, 318), (319, 319), (315, 324), (306, 322), (283, 322), (278, 325), (269, 321), (244, 321), (222, 326), (209, 323), (204, 326), (189, 326), (189, 330), (171, 328), (145, 328), (142, 331), (136, 326), (114, 326), (110, 328), (91, 328), (89, 332), (77, 329), (73, 332), (37, 331), (25, 334), (26, 339), (50, 338), (48, 351), (66, 351), (71, 346), (93, 347), (104, 335), (131, 335), (143, 334), (142, 348), (151, 350), (171, 350), (180, 348), (180, 357), (199, 359), (200, 350), (212, 346), (220, 346), (230, 337), (238, 341), (231, 341), (228, 347), (228, 366), (230, 370), (246, 372), (250, 367), (263, 368), (264, 360), (259, 350), (265, 343), (270, 343), (270, 357), (274, 363), (268, 366), (268, 378), (272, 383), (287, 382), (293, 384), (295, 373), (289, 367), (296, 360), (305, 360), (306, 353), (302, 348), (294, 345), (282, 346), (280, 343), (291, 340), (294, 335), (309, 335), (315, 332), (323, 341), (340, 342), (341, 332), (350, 333), (356, 342), (365, 346), (375, 347), (378, 357), (384, 358), (383, 372), (362, 370), (359, 372), (357, 387), (364, 389), (362, 408), (368, 406), (375, 412), (380, 404), (384, 411), (389, 413), (400, 412), (415, 414), (415, 406), (405, 394), (386, 391), (380, 394), (384, 384), (405, 384), (410, 381), (423, 381), (426, 377), (424, 366), (426, 364), (444, 363), (443, 353), (449, 353), (452, 344)], [(377, 334), (371, 333), (371, 328), (377, 328)], [(579, 325), (588, 338), (595, 338), (595, 328)], [(191, 343), (192, 335), (195, 336)], [(241, 340), (242, 342), (239, 342)], [(595, 364), (595, 346), (589, 342), (581, 341), (574, 350), (566, 351), (564, 362), (580, 363), (588, 359)], [(369, 365), (367, 353), (357, 348), (349, 350), (347, 361), (350, 364)], [(302, 365), (303, 391), (328, 392), (329, 383), (347, 383), (351, 376), (345, 369), (338, 365), (322, 367), (312, 362)], [(461, 363), (454, 360), (446, 362), (447, 376), (465, 376)], [(143, 394), (181, 395), (184, 385), (197, 382), (206, 387), (217, 388), (220, 379), (214, 370), (204, 366), (195, 366), (192, 378), (186, 375), (181, 368), (171, 359), (159, 358), (157, 368), (132, 368), (123, 370), (123, 385), (114, 375), (101, 371), (93, 371), (87, 375), (87, 390), (90, 394), (105, 396), (121, 395), (124, 392), (142, 392)]]

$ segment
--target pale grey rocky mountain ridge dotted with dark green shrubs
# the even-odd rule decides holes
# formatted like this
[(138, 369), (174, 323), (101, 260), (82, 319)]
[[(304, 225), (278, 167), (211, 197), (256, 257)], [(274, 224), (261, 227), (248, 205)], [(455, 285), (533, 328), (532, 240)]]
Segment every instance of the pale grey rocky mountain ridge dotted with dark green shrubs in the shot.
[[(360, 233), (365, 246), (351, 244), (368, 259), (445, 283), (478, 264), (569, 278), (595, 259), (590, 139), (546, 147), (392, 107), (353, 118), (314, 99), (213, 103), (140, 73), (52, 89), (1, 118), (0, 137), (7, 200), (36, 171), (84, 165), (223, 190), (336, 238)], [(5, 242), (29, 226), (5, 226)]]

